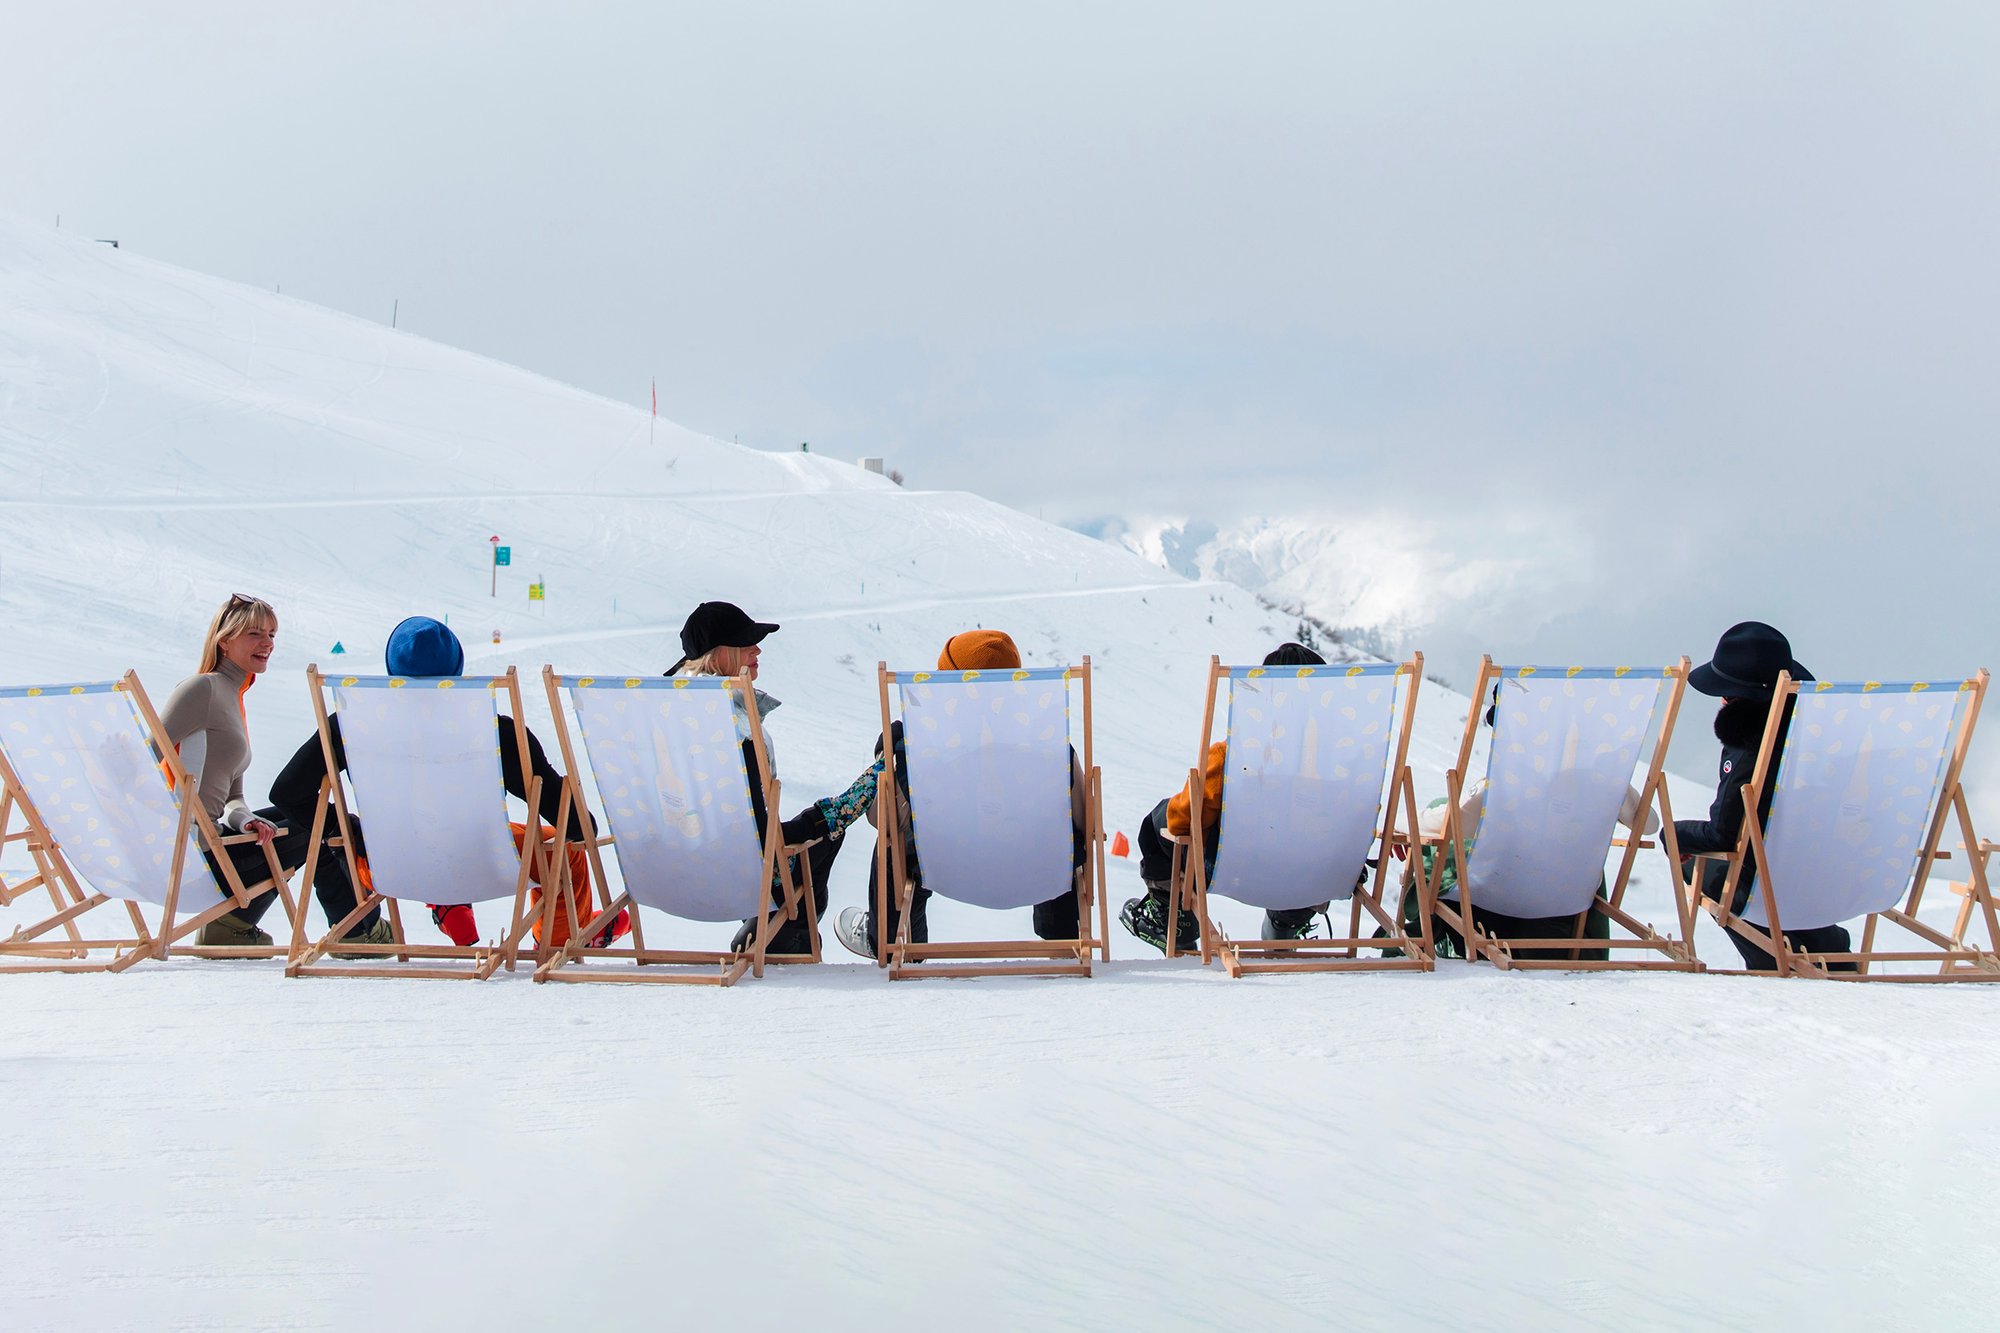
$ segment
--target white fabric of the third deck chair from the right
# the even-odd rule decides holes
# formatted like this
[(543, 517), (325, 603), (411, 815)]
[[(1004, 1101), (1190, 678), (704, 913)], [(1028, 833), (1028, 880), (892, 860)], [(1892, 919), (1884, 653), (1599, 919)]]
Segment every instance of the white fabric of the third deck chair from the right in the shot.
[(1210, 893), (1268, 911), (1354, 895), (1394, 777), (1400, 671), (1394, 662), (1228, 669)]

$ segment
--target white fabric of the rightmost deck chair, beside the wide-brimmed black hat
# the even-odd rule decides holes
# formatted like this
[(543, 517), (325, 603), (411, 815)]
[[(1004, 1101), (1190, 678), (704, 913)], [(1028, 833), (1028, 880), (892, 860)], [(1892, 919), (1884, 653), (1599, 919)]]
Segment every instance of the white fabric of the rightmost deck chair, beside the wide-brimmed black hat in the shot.
[[(1904, 901), (1970, 697), (1970, 683), (1800, 687), (1764, 833), (1786, 931)], [(1742, 915), (1770, 925), (1762, 893)]]

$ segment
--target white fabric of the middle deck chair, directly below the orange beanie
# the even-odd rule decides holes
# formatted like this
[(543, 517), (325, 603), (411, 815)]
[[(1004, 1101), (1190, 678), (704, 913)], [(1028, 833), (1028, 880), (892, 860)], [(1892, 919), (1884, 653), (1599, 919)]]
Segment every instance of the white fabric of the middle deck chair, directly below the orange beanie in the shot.
[(1070, 673), (898, 673), (924, 889), (1028, 907), (1072, 883)]

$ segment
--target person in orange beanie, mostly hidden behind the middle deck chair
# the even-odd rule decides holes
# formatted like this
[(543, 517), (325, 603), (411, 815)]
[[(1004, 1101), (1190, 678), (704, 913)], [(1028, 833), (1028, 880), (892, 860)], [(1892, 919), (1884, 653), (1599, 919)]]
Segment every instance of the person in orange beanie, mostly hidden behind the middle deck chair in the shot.
[[(976, 628), (962, 634), (952, 634), (946, 640), (944, 650), (938, 652), (938, 671), (1012, 671), (1020, 666), (1020, 648), (1014, 646), (1014, 638), (1006, 630)], [(890, 727), (892, 745), (896, 747), (896, 799), (894, 817), (902, 829), (902, 845), (906, 849), (904, 871), (908, 879), (916, 881), (920, 887), (910, 899), (910, 943), (924, 945), (930, 943), (930, 923), (926, 921), (926, 905), (930, 903), (930, 891), (922, 889), (924, 871), (916, 859), (916, 847), (910, 837), (910, 779), (902, 763), (902, 723)], [(882, 743), (876, 741), (874, 763), (858, 777), (852, 785), (838, 797), (826, 797), (814, 801), (796, 819), (784, 823), (784, 841), (788, 845), (812, 843), (826, 837), (840, 837), (848, 825), (858, 819), (868, 819), (870, 825), (880, 827), (880, 803), (878, 785), (882, 781)], [(1076, 763), (1076, 751), (1070, 751), (1070, 827), (1074, 831), (1072, 841), (1072, 869), (1082, 871), (1084, 867), (1084, 771)], [(878, 887), (876, 863), (868, 867), (868, 901), (874, 903)], [(888, 933), (896, 935), (900, 927), (898, 905), (890, 903)], [(1080, 931), (1078, 923), (1078, 899), (1076, 883), (1072, 879), (1070, 887), (1056, 897), (1034, 905), (1034, 933), (1040, 939), (1076, 939)], [(862, 955), (864, 959), (876, 957), (876, 923), (874, 913), (866, 907), (848, 907), (840, 913), (840, 921), (834, 925), (834, 937), (842, 945)]]

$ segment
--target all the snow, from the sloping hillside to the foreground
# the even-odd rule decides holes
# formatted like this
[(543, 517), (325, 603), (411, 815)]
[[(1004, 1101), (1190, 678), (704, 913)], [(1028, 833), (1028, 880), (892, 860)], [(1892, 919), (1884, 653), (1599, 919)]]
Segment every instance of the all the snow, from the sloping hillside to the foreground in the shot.
[[(974, 496), (650, 426), (6, 218), (0, 522), (8, 685), (138, 666), (164, 695), (230, 590), (278, 604), (252, 795), (308, 733), (302, 666), (376, 669), (404, 614), (448, 616), (474, 671), (608, 675), (664, 669), (724, 596), (784, 624), (788, 811), (866, 761), (876, 660), (986, 624), (1032, 662), (1094, 658), (1130, 833), (1196, 757), (1208, 654), (1290, 630)], [(514, 546), (500, 598), (490, 534)], [(1426, 685), (1424, 799), (1464, 711)], [(866, 857), (842, 855), (836, 909)], [(1110, 875), (1116, 907), (1138, 879)], [(1658, 853), (1632, 905), (1672, 917)], [(934, 935), (980, 917), (936, 903)], [(1090, 981), (836, 959), (716, 995), (250, 963), (4, 979), (0, 1327), (1992, 1321), (2000, 993), (1230, 983), (1116, 929), (1114, 951)]]

